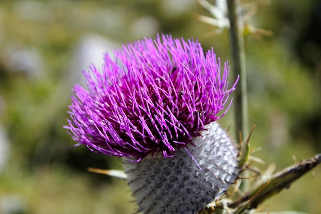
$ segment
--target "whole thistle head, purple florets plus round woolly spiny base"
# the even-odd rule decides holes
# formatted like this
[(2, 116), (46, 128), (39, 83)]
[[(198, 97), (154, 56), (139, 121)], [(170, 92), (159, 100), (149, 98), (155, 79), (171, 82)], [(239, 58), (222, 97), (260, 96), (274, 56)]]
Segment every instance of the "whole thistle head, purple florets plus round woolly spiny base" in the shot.
[[(105, 54), (103, 71), (75, 85), (65, 126), (92, 151), (125, 157), (128, 184), (144, 213), (196, 213), (238, 174), (237, 149), (215, 122), (235, 89), (228, 66), (196, 41), (145, 38)], [(220, 110), (226, 109), (223, 113)]]

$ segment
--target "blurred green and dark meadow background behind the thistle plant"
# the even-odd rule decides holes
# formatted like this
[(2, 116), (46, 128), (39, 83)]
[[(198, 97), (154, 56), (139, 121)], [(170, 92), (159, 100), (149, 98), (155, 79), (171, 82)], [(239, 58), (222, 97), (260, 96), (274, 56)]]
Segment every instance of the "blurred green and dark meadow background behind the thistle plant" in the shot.
[[(228, 33), (208, 36), (215, 27), (195, 14), (209, 15), (194, 0), (0, 1), (0, 213), (136, 210), (125, 181), (87, 171), (122, 169), (121, 159), (66, 150), (71, 88), (105, 51), (157, 32), (199, 38), (230, 59)], [(279, 170), (321, 152), (321, 2), (272, 0), (251, 24), (274, 35), (245, 38), (250, 143), (262, 148), (258, 167)], [(233, 129), (233, 110), (220, 123)], [(320, 181), (318, 166), (264, 211), (320, 213)]]

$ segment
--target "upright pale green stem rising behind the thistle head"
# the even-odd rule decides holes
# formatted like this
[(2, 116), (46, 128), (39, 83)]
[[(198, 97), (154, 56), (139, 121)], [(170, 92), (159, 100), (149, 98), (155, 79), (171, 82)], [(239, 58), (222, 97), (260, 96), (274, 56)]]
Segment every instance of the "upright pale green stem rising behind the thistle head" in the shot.
[[(243, 23), (240, 14), (239, 0), (226, 0), (228, 9), (228, 18), (230, 22), (230, 44), (234, 80), (239, 75), (239, 85), (234, 95), (234, 111), (235, 111), (235, 139), (242, 143), (239, 132), (243, 136), (247, 136), (248, 131), (248, 106), (247, 106), (247, 84), (246, 84), (246, 62), (245, 48), (243, 37)], [(243, 182), (242, 189), (248, 189), (248, 182)]]

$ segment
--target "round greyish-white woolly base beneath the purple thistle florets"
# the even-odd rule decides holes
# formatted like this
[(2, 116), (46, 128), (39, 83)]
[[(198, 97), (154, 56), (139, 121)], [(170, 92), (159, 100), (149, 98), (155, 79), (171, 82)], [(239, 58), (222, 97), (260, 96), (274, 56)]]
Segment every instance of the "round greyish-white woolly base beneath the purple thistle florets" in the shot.
[(180, 149), (173, 158), (149, 154), (137, 163), (124, 159), (139, 211), (195, 214), (234, 183), (239, 172), (236, 144), (216, 122), (201, 134), (193, 139), (195, 146), (188, 146), (190, 154)]

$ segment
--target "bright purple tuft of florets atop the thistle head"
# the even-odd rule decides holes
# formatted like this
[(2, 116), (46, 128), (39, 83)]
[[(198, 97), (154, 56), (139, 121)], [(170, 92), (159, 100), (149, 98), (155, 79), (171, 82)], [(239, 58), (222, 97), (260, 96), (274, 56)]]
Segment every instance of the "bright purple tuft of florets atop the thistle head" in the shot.
[(222, 118), (229, 89), (212, 50), (170, 35), (123, 46), (103, 71), (84, 72), (88, 90), (75, 85), (69, 129), (78, 144), (107, 155), (140, 161), (148, 154), (173, 157), (193, 145), (205, 126)]

